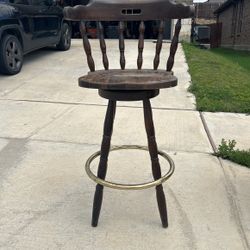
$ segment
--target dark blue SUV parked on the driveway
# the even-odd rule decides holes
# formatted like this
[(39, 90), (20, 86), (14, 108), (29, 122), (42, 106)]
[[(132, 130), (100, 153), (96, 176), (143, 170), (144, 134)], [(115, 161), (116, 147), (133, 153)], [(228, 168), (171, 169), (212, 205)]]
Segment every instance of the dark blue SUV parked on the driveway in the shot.
[(70, 23), (55, 0), (0, 0), (0, 71), (17, 74), (23, 55), (56, 45), (68, 50)]

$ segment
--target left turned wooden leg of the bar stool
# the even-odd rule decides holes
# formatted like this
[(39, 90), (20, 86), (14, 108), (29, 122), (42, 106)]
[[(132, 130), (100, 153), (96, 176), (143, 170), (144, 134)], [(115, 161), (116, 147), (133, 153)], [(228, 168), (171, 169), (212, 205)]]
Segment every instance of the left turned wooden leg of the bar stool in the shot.
[[(105, 179), (107, 172), (107, 163), (108, 163), (108, 155), (110, 150), (110, 141), (111, 135), (113, 131), (113, 123), (115, 118), (115, 110), (116, 110), (116, 101), (109, 100), (108, 108), (104, 121), (104, 129), (103, 129), (103, 139), (101, 145), (101, 155), (100, 162), (98, 166), (97, 176), (101, 179)], [(100, 184), (96, 185), (94, 202), (93, 202), (93, 211), (92, 211), (92, 226), (96, 227), (98, 224), (98, 219), (102, 206), (102, 197), (103, 197), (103, 186)]]

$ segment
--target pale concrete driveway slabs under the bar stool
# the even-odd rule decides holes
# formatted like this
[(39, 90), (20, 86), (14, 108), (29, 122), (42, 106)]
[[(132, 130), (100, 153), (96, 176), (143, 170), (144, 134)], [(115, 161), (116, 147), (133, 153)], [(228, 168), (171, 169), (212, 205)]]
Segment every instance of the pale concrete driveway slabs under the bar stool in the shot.
[[(99, 45), (93, 43), (101, 68)], [(154, 46), (145, 43), (144, 67), (152, 67)], [(117, 41), (107, 47), (111, 67), (118, 67)], [(136, 56), (137, 43), (128, 41), (128, 67), (135, 66)], [(249, 249), (250, 171), (211, 155), (221, 138), (250, 147), (249, 116), (196, 111), (187, 70), (180, 48), (178, 87), (152, 100), (158, 145), (176, 163), (164, 185), (168, 229), (161, 228), (152, 189), (105, 189), (99, 226), (90, 226), (94, 183), (83, 166), (99, 150), (107, 101), (77, 86), (87, 72), (81, 41), (67, 52), (34, 52), (19, 75), (0, 76), (0, 248)], [(112, 143), (145, 145), (143, 126), (140, 102), (119, 103)], [(114, 152), (109, 165), (108, 179), (152, 178), (145, 152)]]

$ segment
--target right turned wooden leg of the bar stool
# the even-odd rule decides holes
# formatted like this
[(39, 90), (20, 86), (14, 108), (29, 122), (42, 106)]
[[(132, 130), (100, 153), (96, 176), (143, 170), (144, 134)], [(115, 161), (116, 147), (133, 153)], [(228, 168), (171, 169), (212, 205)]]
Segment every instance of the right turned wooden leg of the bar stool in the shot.
[[(148, 148), (152, 162), (154, 179), (161, 178), (161, 168), (158, 159), (158, 149), (155, 140), (152, 108), (149, 99), (143, 100), (144, 120), (148, 137)], [(168, 227), (167, 205), (162, 185), (156, 186), (156, 197), (163, 227)]]

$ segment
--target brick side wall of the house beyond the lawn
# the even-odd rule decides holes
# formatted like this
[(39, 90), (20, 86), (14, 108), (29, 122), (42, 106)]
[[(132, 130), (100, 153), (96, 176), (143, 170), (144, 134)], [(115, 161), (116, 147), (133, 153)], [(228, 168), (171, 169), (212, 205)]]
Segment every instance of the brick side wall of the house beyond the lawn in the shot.
[(236, 20), (236, 29), (233, 34), (232, 18), (233, 5), (228, 7), (218, 16), (218, 21), (222, 22), (221, 47), (233, 48), (237, 50), (250, 50), (250, 1), (244, 1), (241, 32), (238, 32), (237, 30), (239, 25), (239, 8)]

